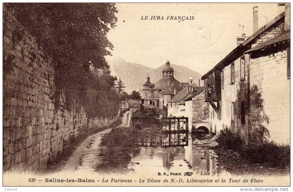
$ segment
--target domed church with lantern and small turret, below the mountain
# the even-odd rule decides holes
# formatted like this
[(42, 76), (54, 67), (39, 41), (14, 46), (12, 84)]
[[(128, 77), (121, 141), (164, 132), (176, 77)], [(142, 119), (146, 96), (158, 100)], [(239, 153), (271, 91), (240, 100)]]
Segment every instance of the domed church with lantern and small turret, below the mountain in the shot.
[(174, 78), (174, 70), (170, 67), (170, 62), (166, 62), (163, 68), (162, 78), (155, 84), (150, 82), (149, 75), (147, 81), (143, 85), (143, 89), (139, 91), (141, 95), (141, 104), (151, 109), (166, 109), (167, 102), (171, 100), (177, 92), (185, 88), (188, 83), (180, 83)]

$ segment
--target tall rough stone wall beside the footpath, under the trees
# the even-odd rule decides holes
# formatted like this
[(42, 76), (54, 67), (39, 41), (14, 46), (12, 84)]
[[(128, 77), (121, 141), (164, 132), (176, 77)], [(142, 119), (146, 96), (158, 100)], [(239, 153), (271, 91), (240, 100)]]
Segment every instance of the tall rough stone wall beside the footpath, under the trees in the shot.
[[(3, 172), (36, 172), (75, 138), (117, 120), (88, 119), (82, 107), (55, 108), (51, 58), (3, 6)], [(119, 113), (118, 113), (119, 114)]]

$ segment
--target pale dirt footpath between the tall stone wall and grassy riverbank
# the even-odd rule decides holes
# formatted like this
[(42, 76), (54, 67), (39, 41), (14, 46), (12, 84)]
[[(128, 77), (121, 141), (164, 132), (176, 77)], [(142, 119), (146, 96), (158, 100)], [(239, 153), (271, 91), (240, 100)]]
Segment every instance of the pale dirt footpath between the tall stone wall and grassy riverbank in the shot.
[[(123, 114), (120, 126), (127, 127), (130, 122), (130, 112)], [(94, 135), (88, 136), (73, 152), (69, 159), (65, 162), (65, 166), (60, 170), (64, 172), (89, 171), (94, 172), (94, 166), (100, 161), (100, 143), (102, 137), (109, 133), (111, 128), (100, 131)]]

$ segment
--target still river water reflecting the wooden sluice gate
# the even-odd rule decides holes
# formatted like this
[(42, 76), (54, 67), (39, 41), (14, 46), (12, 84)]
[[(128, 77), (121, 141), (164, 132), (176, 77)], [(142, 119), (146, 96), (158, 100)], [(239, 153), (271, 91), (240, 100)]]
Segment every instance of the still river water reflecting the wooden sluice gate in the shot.
[(199, 171), (213, 175), (217, 172), (213, 150), (192, 145), (188, 133), (160, 134), (138, 133), (140, 152), (132, 158), (134, 172), (156, 170), (158, 172)]

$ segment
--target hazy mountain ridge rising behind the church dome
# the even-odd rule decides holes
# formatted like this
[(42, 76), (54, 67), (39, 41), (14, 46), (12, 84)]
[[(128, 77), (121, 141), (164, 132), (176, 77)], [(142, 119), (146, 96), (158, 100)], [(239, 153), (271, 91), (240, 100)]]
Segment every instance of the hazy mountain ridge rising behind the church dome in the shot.
[[(142, 89), (142, 85), (147, 81), (147, 73), (151, 78), (151, 83), (156, 83), (162, 78), (162, 70), (166, 66), (163, 64), (158, 68), (151, 68), (137, 63), (126, 62), (122, 58), (109, 59), (111, 74), (121, 78), (125, 83), (125, 91), (130, 93), (133, 90), (139, 91)], [(196, 85), (198, 85), (198, 79), (201, 79), (202, 75), (193, 71), (187, 67), (170, 65), (174, 69), (174, 78), (180, 83), (187, 83), (190, 75), (193, 77)], [(203, 86), (203, 81), (200, 80), (200, 85)]]

